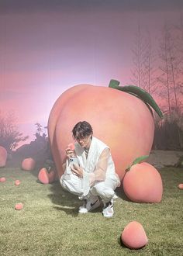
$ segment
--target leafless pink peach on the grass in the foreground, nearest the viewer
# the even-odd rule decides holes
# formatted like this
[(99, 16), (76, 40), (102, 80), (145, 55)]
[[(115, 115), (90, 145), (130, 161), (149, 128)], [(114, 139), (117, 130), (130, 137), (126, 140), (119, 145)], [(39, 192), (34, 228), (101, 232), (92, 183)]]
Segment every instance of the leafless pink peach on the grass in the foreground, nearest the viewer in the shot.
[(148, 243), (148, 238), (143, 226), (137, 221), (132, 221), (126, 225), (121, 240), (130, 249), (139, 249)]

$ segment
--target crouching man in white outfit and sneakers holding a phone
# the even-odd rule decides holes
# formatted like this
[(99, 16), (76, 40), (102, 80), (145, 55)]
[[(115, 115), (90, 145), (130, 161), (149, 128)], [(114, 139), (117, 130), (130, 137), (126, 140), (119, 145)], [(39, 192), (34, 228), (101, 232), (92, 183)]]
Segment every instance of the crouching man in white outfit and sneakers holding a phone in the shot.
[[(99, 196), (104, 204), (103, 216), (112, 217), (112, 198), (120, 181), (109, 147), (93, 137), (92, 127), (86, 121), (77, 123), (72, 133), (76, 140), (75, 148), (66, 149), (67, 163), (60, 184), (64, 189), (85, 200), (84, 205), (79, 208), (79, 213), (88, 213), (100, 206)], [(77, 157), (77, 161), (74, 161), (73, 157)]]

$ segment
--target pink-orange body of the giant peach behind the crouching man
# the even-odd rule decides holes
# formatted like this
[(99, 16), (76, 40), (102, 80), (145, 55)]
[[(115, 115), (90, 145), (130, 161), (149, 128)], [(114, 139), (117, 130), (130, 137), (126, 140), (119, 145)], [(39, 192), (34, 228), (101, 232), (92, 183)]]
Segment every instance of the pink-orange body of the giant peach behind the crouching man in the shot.
[(91, 123), (94, 136), (109, 145), (116, 172), (122, 180), (136, 157), (150, 153), (154, 119), (146, 104), (126, 92), (95, 86), (75, 85), (55, 102), (48, 120), (50, 147), (58, 176), (64, 171), (65, 148), (79, 121)]

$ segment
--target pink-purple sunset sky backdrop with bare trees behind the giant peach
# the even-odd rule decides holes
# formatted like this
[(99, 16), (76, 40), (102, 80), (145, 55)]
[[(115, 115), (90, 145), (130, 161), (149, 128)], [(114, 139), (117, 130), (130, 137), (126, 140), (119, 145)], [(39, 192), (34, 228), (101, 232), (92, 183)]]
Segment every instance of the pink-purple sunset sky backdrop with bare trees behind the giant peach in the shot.
[(113, 78), (164, 112), (154, 149), (183, 150), (182, 60), (182, 1), (0, 0), (0, 144), (44, 143), (62, 92)]

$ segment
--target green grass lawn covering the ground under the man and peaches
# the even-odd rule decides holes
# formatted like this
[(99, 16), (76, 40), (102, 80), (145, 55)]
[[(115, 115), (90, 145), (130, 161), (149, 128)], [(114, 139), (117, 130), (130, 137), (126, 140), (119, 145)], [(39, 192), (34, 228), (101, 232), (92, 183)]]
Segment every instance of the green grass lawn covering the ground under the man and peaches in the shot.
[[(161, 203), (129, 202), (118, 189), (115, 216), (105, 219), (101, 209), (78, 215), (82, 202), (64, 192), (59, 182), (43, 185), (34, 173), (19, 168), (1, 168), (0, 255), (182, 255), (183, 183), (182, 168), (164, 168)], [(19, 186), (14, 181), (20, 179)], [(16, 202), (24, 208), (15, 210)], [(140, 250), (120, 244), (123, 228), (140, 222), (149, 243)]]

